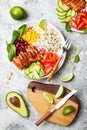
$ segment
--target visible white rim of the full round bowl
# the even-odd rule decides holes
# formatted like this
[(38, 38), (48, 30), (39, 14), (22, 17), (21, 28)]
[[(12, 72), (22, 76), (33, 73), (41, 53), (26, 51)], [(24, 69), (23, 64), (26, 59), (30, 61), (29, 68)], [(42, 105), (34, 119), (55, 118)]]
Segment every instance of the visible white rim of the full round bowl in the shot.
[[(34, 24), (36, 24), (36, 23), (38, 23), (38, 22), (33, 22), (33, 21), (31, 21), (31, 22), (29, 22), (29, 23), (27, 24), (27, 26), (28, 26), (28, 27), (29, 27), (29, 26), (34, 26)], [(26, 24), (26, 23), (24, 23), (24, 24)], [(23, 24), (22, 24), (22, 25), (23, 25)], [(59, 37), (60, 37), (60, 39), (61, 39), (61, 48), (62, 48), (62, 47), (64, 46), (64, 44), (65, 44), (65, 39), (64, 39), (64, 36), (62, 35), (62, 33), (61, 33), (55, 26), (53, 26), (53, 25), (50, 24), (50, 23), (47, 23), (47, 26), (50, 26), (50, 27), (54, 28), (55, 31), (58, 32)], [(62, 49), (61, 49), (60, 51), (58, 51), (57, 54), (58, 54), (58, 56), (60, 56), (60, 55), (62, 54)], [(62, 65), (63, 65), (63, 63), (64, 63), (64, 61), (65, 61), (65, 58), (66, 58), (66, 53), (64, 53), (64, 55), (63, 55), (62, 62), (59, 63), (59, 66), (58, 66), (57, 71), (62, 67)], [(24, 70), (19, 70), (14, 63), (12, 63), (12, 64), (13, 64), (13, 66), (17, 69), (17, 71), (18, 71), (19, 73), (21, 73), (21, 74), (24, 75)], [(57, 72), (57, 71), (56, 71), (56, 72)], [(25, 76), (25, 75), (24, 75), (24, 76)], [(46, 75), (46, 76), (44, 76), (44, 77), (42, 77), (42, 78), (47, 78), (48, 76), (49, 76), (49, 75)]]

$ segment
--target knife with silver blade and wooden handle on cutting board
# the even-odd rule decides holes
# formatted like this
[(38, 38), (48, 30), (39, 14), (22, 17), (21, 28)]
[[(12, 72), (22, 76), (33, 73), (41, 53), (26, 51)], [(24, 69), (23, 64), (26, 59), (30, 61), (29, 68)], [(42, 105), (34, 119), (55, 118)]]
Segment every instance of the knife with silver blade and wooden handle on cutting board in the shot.
[(77, 92), (77, 90), (73, 90), (70, 93), (68, 93), (63, 99), (61, 99), (50, 111), (48, 111), (44, 116), (42, 116), (35, 124), (36, 126), (40, 125), (44, 120), (46, 120), (51, 114), (62, 107), (66, 101)]

